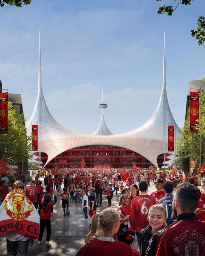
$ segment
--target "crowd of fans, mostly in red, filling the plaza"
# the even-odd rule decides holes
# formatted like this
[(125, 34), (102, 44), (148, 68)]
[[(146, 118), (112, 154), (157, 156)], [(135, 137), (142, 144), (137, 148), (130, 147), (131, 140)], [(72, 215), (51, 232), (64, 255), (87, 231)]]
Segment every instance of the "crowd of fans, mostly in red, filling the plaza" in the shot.
[[(35, 171), (32, 174), (34, 179), (29, 186), (25, 177), (21, 177), (21, 182), (27, 198), (40, 216), (39, 246), (45, 228), (45, 243), (51, 246), (50, 219), (58, 193), (64, 217), (70, 214), (69, 203), (73, 202), (82, 204), (82, 221), (91, 218), (91, 230), (85, 239), (86, 244), (77, 256), (101, 256), (107, 254), (107, 251), (109, 254), (133, 256), (204, 254), (203, 177), (200, 192), (197, 188), (198, 175), (177, 171), (72, 168), (59, 170), (58, 173)], [(8, 187), (12, 186), (6, 178), (0, 183), (2, 202), (8, 196)], [(45, 188), (42, 186), (42, 178)], [(150, 182), (156, 190), (149, 195)], [(107, 208), (100, 211), (103, 194), (107, 198)], [(114, 208), (112, 198), (118, 194), (119, 208)], [(134, 249), (136, 243), (138, 250)], [(27, 250), (24, 251), (25, 254), (21, 255), (26, 255)]]

